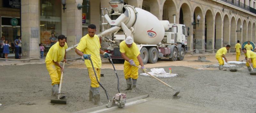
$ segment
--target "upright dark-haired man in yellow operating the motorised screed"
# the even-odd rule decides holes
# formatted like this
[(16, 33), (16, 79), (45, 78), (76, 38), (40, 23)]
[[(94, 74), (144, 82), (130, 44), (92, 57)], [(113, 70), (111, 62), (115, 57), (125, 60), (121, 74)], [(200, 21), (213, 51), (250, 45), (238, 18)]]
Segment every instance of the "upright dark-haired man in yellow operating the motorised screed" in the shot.
[(88, 34), (80, 39), (78, 46), (75, 49), (75, 52), (82, 56), (84, 63), (87, 67), (89, 77), (91, 79), (91, 86), (89, 91), (89, 101), (94, 104), (102, 105), (100, 102), (100, 86), (95, 77), (91, 62), (89, 59), (89, 55), (91, 55), (92, 63), (95, 68), (95, 72), (97, 74), (97, 78), (100, 81), (100, 68), (101, 68), (101, 59), (100, 54), (103, 54), (104, 58), (109, 56), (108, 53), (102, 51), (100, 48), (100, 39), (97, 35), (95, 35), (96, 26), (91, 24), (88, 26)]

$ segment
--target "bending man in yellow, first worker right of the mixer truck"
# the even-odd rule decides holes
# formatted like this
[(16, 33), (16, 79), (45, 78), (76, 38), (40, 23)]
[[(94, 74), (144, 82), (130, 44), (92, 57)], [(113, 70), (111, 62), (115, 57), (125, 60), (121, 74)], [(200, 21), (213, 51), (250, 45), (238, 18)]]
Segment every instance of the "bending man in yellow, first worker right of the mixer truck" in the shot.
[(227, 45), (226, 47), (222, 47), (220, 48), (216, 55), (215, 58), (219, 61), (219, 69), (222, 70), (223, 69), (223, 65), (224, 65), (224, 60), (222, 59), (222, 57), (225, 59), (226, 62), (228, 62), (225, 54), (227, 53), (227, 51), (230, 49), (230, 45)]

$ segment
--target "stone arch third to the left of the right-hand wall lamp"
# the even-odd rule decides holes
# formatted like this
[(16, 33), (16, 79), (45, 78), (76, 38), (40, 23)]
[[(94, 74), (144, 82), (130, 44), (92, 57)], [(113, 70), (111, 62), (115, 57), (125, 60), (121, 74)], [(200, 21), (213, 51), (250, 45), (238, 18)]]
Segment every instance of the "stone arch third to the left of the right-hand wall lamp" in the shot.
[(215, 16), (215, 49), (220, 49), (222, 47), (222, 21), (220, 13), (218, 12)]

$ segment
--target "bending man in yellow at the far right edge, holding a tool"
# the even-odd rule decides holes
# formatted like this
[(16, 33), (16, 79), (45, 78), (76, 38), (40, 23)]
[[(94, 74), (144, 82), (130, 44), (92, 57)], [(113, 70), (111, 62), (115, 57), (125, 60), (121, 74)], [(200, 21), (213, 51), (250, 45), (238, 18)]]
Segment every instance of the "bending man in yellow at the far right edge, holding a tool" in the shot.
[(248, 71), (251, 72), (251, 63), (253, 64), (253, 71), (256, 71), (256, 54), (251, 51), (251, 50), (246, 50), (246, 48), (243, 48), (242, 51), (244, 52), (245, 55), (245, 60), (246, 60), (246, 66), (248, 68)]

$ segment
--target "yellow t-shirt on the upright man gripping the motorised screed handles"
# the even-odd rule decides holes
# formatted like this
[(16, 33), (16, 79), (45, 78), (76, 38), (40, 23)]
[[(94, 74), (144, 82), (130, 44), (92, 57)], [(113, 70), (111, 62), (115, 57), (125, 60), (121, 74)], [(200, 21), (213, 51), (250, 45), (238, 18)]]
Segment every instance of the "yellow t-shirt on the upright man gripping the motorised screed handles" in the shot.
[[(91, 59), (94, 68), (101, 68), (100, 59), (100, 39), (97, 35), (90, 37), (88, 34), (80, 39), (76, 49), (83, 52), (84, 54), (91, 54)], [(92, 67), (90, 60), (84, 60), (86, 67)]]

